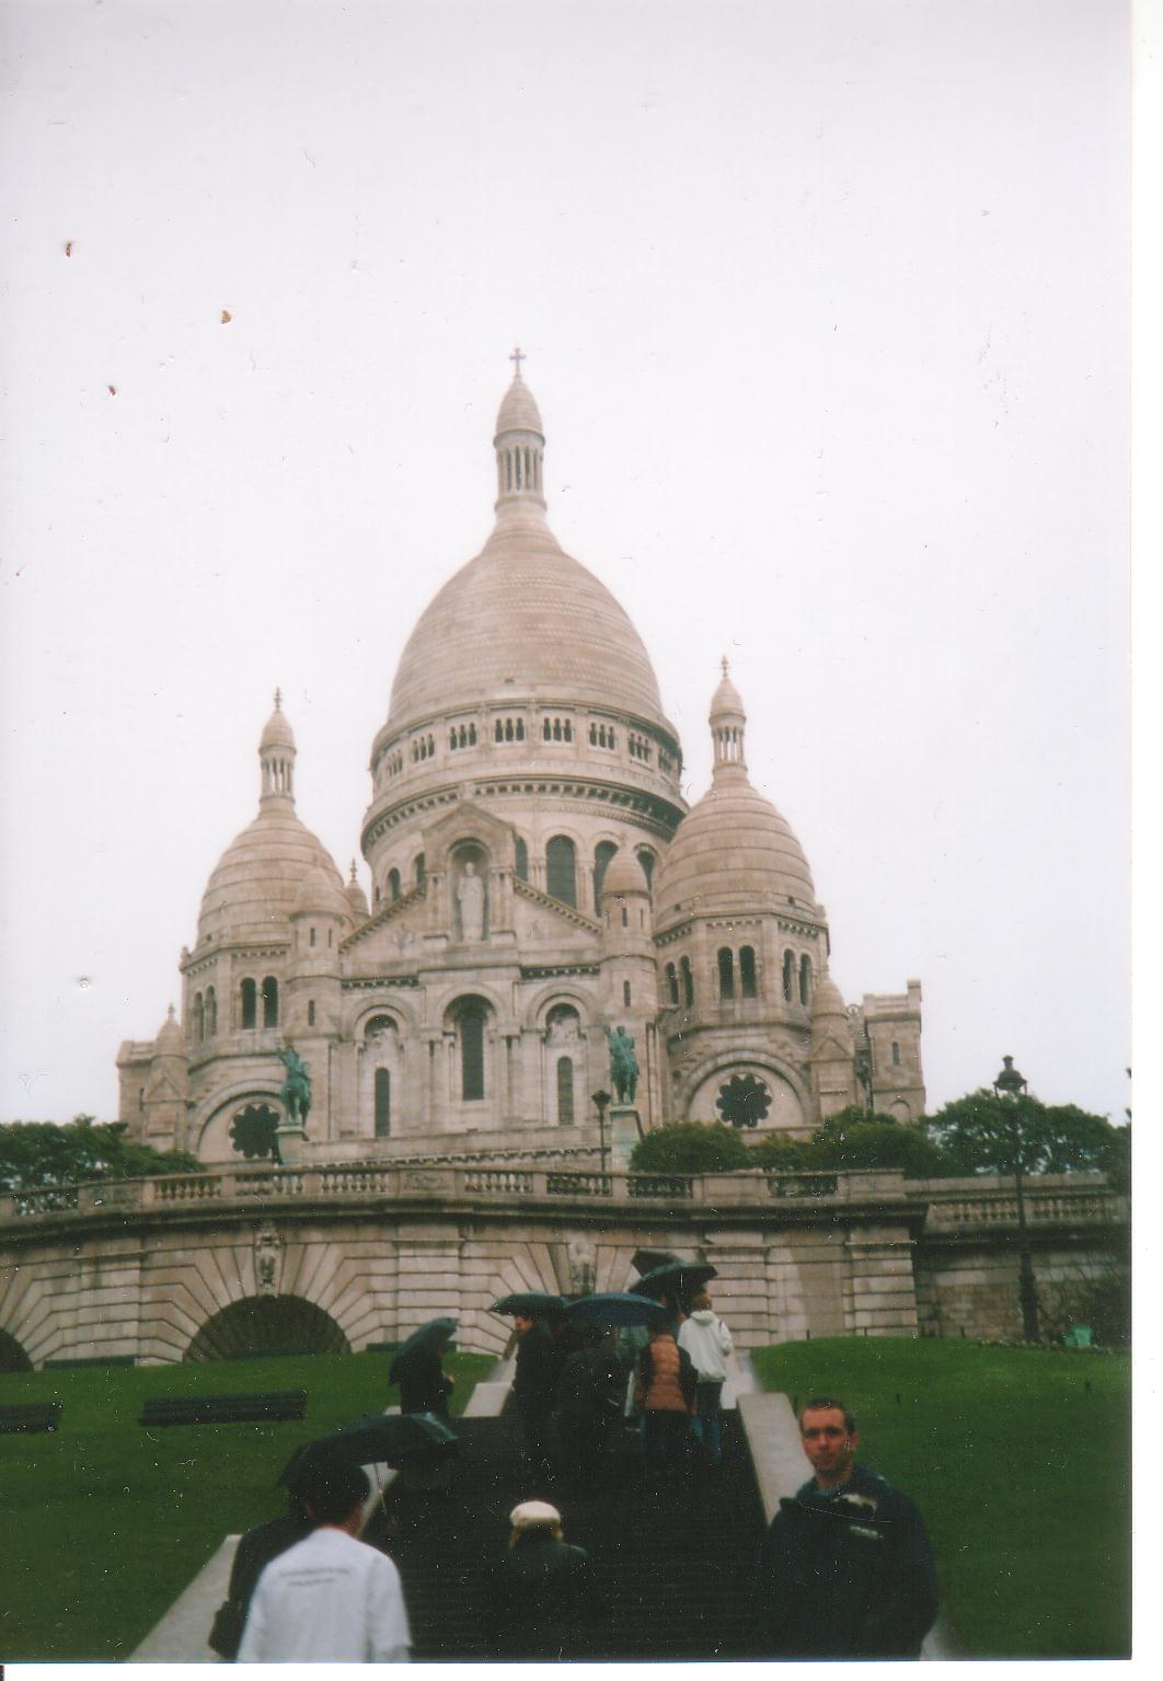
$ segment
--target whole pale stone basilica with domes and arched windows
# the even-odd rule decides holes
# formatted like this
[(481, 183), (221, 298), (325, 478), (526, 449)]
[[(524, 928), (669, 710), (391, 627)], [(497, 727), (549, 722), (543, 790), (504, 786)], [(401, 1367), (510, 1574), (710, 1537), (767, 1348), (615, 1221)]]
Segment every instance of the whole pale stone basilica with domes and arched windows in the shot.
[(612, 1035), (634, 1041), (618, 1096), (639, 1131), (807, 1138), (850, 1103), (916, 1118), (919, 983), (845, 1005), (807, 857), (748, 778), (726, 662), (687, 809), (649, 654), (546, 523), (519, 360), (494, 451), (492, 533), (420, 615), (371, 743), (370, 894), (299, 817), (276, 694), (257, 815), (182, 951), (182, 1014), (118, 1054), (129, 1135), (207, 1163), (289, 1145), (308, 1163), (585, 1162), (605, 1150)]

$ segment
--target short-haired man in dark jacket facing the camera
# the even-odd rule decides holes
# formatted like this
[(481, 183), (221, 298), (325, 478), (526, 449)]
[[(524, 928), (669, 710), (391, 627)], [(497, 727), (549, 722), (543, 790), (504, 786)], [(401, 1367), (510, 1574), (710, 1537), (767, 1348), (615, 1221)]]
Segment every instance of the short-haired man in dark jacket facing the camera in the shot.
[(855, 1464), (855, 1420), (822, 1395), (800, 1414), (815, 1476), (763, 1541), (756, 1657), (919, 1657), (936, 1617), (933, 1553), (908, 1494)]

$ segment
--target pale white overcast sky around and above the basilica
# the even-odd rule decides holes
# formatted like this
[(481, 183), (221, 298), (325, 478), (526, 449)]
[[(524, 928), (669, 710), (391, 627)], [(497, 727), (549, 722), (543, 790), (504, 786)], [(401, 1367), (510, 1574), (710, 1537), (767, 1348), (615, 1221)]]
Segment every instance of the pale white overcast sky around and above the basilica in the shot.
[(923, 982), (929, 1108), (1012, 1052), (1123, 1116), (1119, 3), (0, 24), (0, 1118), (116, 1113), (276, 684), (346, 872), (516, 341), (689, 797), (728, 652), (844, 995)]

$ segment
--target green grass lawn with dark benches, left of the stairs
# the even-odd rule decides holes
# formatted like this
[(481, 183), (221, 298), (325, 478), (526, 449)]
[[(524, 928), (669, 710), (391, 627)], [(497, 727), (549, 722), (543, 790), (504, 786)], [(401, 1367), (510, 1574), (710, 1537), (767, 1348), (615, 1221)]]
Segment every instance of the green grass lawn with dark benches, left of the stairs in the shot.
[[(313, 1355), (0, 1373), (0, 1402), (61, 1400), (50, 1436), (0, 1436), (5, 1594), (0, 1659), (118, 1661), (225, 1535), (284, 1510), (276, 1479), (299, 1442), (398, 1400), (387, 1355)], [(462, 1410), (487, 1355), (449, 1355)], [(306, 1389), (297, 1424), (145, 1431), (148, 1395)]]

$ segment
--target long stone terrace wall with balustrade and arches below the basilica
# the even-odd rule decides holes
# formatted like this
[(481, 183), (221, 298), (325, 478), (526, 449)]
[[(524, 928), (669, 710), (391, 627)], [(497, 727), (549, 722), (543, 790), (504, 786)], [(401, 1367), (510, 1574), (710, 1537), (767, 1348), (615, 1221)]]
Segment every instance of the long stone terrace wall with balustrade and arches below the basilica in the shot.
[[(1017, 1335), (1017, 1249), (998, 1182), (899, 1173), (627, 1175), (536, 1165), (249, 1168), (0, 1199), (0, 1330), (34, 1365), (225, 1346), (215, 1328), (397, 1341), (442, 1313), (499, 1355), (513, 1289), (634, 1283), (634, 1252), (718, 1267), (741, 1350), (807, 1336)], [(1030, 1192), (1040, 1284), (1101, 1269), (1126, 1205), (1101, 1178)], [(262, 1306), (266, 1303), (266, 1308)], [(257, 1304), (257, 1306), (255, 1306)], [(297, 1313), (297, 1320), (296, 1320)], [(314, 1346), (314, 1343), (309, 1343)]]

